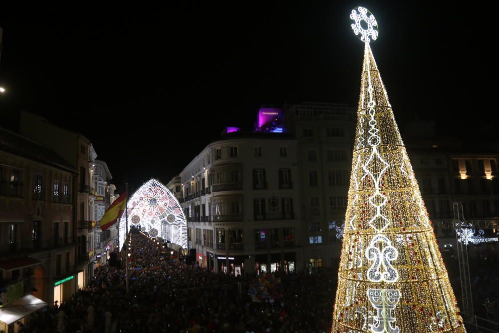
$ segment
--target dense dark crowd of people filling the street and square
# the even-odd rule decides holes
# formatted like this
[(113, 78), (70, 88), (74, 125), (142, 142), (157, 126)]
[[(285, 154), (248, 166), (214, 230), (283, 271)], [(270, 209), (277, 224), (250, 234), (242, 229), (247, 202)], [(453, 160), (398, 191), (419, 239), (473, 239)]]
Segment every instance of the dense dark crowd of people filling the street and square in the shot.
[[(99, 267), (87, 288), (37, 312), (23, 332), (329, 332), (336, 274), (235, 277), (186, 265), (133, 234), (123, 269)], [(174, 257), (174, 258), (171, 258)]]

